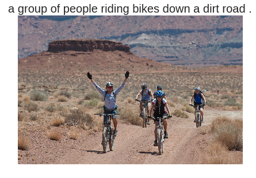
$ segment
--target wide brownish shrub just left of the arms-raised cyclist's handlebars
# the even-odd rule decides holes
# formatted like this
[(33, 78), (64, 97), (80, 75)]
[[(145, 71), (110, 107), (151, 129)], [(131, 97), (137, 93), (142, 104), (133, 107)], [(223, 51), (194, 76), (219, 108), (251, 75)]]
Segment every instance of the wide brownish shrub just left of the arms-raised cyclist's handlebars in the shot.
[(66, 117), (64, 122), (67, 125), (86, 124), (90, 126), (90, 128), (93, 128), (95, 125), (93, 117), (91, 117), (90, 114), (85, 113), (83, 110), (72, 109), (70, 110), (70, 113), (63, 113), (63, 116)]

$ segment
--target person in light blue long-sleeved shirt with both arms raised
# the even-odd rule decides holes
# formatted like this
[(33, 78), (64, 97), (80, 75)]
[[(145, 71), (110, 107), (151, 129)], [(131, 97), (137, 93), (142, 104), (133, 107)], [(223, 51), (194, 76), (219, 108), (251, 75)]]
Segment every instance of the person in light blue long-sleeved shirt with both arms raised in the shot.
[[(91, 80), (91, 83), (95, 86), (95, 88), (104, 96), (105, 105), (104, 107), (104, 114), (113, 114), (117, 113), (117, 105), (116, 105), (116, 96), (120, 92), (121, 89), (123, 89), (125, 82), (127, 81), (127, 78), (129, 77), (129, 72), (127, 71), (125, 74), (125, 79), (123, 84), (119, 86), (116, 90), (113, 90), (113, 83), (107, 82), (106, 83), (106, 90), (103, 90), (98, 86), (92, 79), (91, 74), (88, 72), (87, 77)], [(108, 121), (108, 117), (104, 116), (104, 124)], [(117, 135), (117, 120), (116, 116), (113, 116), (113, 124), (114, 124), (114, 136)], [(105, 125), (107, 126), (107, 125)]]

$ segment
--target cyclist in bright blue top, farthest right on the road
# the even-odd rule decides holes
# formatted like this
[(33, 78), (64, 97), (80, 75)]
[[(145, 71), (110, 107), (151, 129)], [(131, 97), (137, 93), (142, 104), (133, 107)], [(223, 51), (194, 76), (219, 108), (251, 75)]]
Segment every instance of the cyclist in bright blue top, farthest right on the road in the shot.
[[(202, 92), (200, 91), (200, 87), (196, 86), (194, 88), (194, 94), (192, 94), (192, 98), (190, 99), (189, 105), (191, 105), (192, 100), (194, 100), (194, 105), (196, 104), (206, 105), (205, 97), (204, 97), (204, 94), (202, 94)], [(202, 102), (202, 100), (204, 100), (204, 102)], [(204, 110), (204, 106), (199, 106), (198, 109), (200, 110), (200, 113), (202, 116), (202, 122), (204, 122), (204, 112), (202, 112)], [(196, 106), (194, 107), (194, 122), (196, 122)]]

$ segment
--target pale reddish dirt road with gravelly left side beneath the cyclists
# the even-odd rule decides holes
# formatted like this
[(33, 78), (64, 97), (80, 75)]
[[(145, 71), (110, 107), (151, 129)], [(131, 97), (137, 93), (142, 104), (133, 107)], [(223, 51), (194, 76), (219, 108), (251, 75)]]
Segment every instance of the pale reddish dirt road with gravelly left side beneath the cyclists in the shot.
[[(30, 149), (18, 150), (18, 164), (205, 164), (209, 134), (200, 134), (207, 129), (216, 116), (242, 118), (242, 111), (205, 109), (205, 122), (196, 128), (193, 117), (173, 117), (167, 120), (169, 139), (164, 142), (163, 155), (154, 147), (154, 124), (148, 128), (128, 125), (119, 121), (114, 151), (102, 152), (102, 133), (82, 134), (78, 140), (68, 139), (67, 130), (62, 130), (63, 139), (49, 140), (43, 130), (30, 131)], [(61, 129), (61, 128), (58, 128)], [(65, 129), (65, 128), (62, 128)], [(242, 161), (242, 152), (239, 153)], [(198, 156), (200, 155), (200, 156)], [(242, 162), (241, 162), (242, 164)]]

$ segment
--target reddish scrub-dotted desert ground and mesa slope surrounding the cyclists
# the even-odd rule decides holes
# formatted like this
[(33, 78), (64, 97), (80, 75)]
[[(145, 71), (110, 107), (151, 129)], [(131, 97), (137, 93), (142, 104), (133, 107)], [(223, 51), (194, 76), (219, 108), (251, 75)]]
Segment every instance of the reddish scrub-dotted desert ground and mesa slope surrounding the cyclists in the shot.
[[(112, 81), (116, 89), (127, 70), (130, 76), (116, 98), (120, 115), (114, 151), (103, 153), (103, 118), (94, 115), (104, 112), (103, 97), (86, 73), (101, 88)], [(154, 123), (142, 128), (134, 100), (143, 82), (152, 91), (162, 85), (173, 115), (163, 155), (153, 146)], [(189, 106), (194, 86), (207, 100), (201, 128)], [(243, 66), (188, 68), (101, 49), (22, 58), (18, 164), (243, 164)]]

